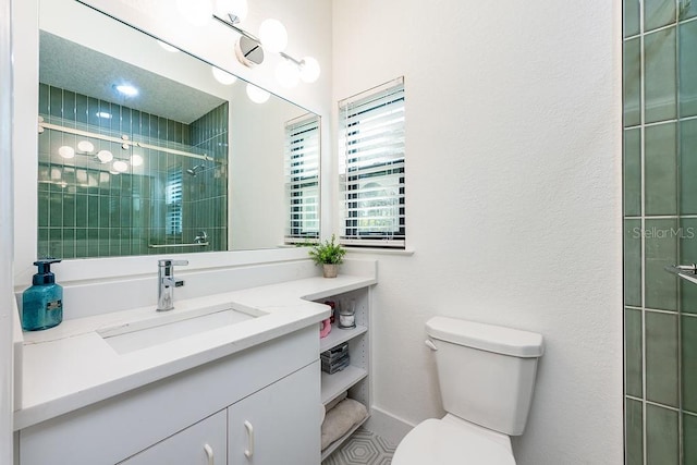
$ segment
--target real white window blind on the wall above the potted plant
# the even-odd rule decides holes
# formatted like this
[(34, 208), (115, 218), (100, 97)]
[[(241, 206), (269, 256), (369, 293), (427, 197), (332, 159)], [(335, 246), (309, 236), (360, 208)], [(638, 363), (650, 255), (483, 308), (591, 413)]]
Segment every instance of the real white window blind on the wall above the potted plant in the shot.
[(339, 102), (342, 243), (404, 248), (404, 78)]

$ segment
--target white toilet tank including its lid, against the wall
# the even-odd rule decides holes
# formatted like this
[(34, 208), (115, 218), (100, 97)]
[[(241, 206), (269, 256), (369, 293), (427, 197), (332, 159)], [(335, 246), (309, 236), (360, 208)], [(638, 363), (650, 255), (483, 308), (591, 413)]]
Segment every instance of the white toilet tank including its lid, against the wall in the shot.
[(542, 336), (448, 317), (428, 320), (426, 332), (436, 347), (443, 408), (485, 428), (522, 435)]

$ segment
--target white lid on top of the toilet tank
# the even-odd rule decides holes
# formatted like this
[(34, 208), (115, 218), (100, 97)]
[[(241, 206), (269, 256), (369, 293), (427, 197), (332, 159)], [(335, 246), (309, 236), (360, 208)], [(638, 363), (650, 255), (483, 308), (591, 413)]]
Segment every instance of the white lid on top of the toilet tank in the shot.
[(545, 351), (542, 335), (500, 326), (433, 317), (426, 322), (433, 339), (515, 357), (539, 357)]

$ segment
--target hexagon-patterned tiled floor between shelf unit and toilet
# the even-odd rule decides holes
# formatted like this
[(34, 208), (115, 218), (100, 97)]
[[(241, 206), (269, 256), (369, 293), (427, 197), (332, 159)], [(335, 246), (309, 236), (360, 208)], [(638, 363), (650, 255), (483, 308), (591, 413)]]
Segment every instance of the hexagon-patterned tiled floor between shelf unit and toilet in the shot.
[(389, 465), (394, 445), (364, 428), (334, 451), (322, 465)]

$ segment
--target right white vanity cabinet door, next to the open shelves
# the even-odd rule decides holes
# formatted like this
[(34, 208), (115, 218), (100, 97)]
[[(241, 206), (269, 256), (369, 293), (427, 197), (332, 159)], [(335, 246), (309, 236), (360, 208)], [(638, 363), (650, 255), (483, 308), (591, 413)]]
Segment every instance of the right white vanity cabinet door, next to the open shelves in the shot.
[(229, 464), (319, 464), (320, 408), (319, 360), (231, 405)]

